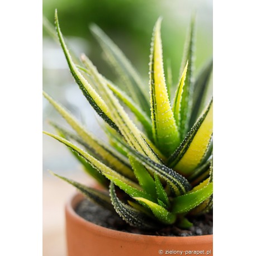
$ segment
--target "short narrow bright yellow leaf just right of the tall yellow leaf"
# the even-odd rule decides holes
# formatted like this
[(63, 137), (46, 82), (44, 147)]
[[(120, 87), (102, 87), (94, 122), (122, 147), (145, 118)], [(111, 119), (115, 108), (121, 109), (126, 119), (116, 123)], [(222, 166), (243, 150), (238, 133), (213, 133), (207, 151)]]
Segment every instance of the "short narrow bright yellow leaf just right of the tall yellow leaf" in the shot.
[(182, 73), (181, 80), (179, 80), (179, 85), (175, 93), (173, 107), (172, 107), (174, 118), (176, 120), (178, 129), (181, 128), (181, 101), (182, 101), (183, 87), (186, 79), (187, 68), (188, 68), (188, 62)]

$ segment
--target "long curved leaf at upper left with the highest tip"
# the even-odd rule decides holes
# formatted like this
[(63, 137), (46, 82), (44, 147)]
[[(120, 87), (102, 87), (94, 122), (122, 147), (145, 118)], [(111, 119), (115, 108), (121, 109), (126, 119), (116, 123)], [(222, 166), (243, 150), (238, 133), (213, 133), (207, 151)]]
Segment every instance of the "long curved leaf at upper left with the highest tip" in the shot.
[(59, 37), (61, 48), (63, 49), (63, 52), (65, 54), (65, 57), (69, 65), (70, 72), (73, 75), (75, 82), (78, 84), (84, 96), (87, 98), (88, 102), (91, 104), (94, 110), (98, 113), (98, 115), (102, 117), (102, 119), (105, 120), (111, 127), (118, 130), (116, 124), (111, 119), (111, 113), (108, 110), (106, 103), (102, 100), (102, 98), (98, 95), (98, 93), (92, 88), (92, 86), (88, 83), (88, 81), (79, 72), (77, 66), (72, 60), (72, 56), (69, 53), (67, 45), (65, 44), (65, 41), (64, 41), (64, 37), (60, 31), (57, 10), (55, 11), (55, 24), (56, 24), (56, 31)]

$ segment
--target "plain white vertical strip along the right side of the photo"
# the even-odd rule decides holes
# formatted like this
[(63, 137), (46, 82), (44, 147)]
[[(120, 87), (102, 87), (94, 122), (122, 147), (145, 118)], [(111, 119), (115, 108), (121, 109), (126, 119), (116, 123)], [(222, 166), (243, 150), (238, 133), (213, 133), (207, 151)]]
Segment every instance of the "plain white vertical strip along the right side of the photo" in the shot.
[(255, 5), (214, 1), (214, 255), (255, 255)]

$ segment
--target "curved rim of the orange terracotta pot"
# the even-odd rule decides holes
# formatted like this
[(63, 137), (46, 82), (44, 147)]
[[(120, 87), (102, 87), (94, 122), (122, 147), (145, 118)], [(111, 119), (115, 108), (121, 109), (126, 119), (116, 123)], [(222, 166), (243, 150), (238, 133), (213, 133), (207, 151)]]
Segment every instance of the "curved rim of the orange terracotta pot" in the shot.
[(90, 221), (87, 221), (80, 217), (74, 210), (74, 208), (78, 205), (78, 203), (84, 198), (82, 193), (76, 192), (74, 193), (68, 200), (65, 205), (65, 214), (70, 215), (73, 220), (81, 225), (85, 229), (90, 229), (91, 233), (97, 233), (102, 236), (110, 236), (114, 239), (124, 238), (125, 240), (147, 240), (147, 241), (154, 241), (156, 239), (167, 240), (170, 243), (180, 242), (181, 244), (194, 244), (196, 241), (200, 241), (201, 244), (210, 243), (213, 239), (213, 235), (198, 235), (198, 236), (157, 236), (157, 235), (141, 235), (141, 234), (134, 234), (128, 233), (124, 231), (118, 231), (113, 229), (108, 229), (107, 227), (102, 227), (97, 224), (94, 224)]

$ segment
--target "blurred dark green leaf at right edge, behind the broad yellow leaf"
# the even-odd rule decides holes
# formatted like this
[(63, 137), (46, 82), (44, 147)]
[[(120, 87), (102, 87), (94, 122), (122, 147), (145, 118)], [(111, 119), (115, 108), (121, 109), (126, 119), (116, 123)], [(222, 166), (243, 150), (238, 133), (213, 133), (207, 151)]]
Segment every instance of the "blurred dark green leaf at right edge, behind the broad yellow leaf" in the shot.
[(202, 109), (203, 102), (205, 101), (205, 94), (207, 86), (212, 73), (213, 62), (212, 59), (206, 63), (195, 80), (195, 91), (193, 93), (192, 113), (189, 121), (189, 127), (195, 124), (199, 111)]

